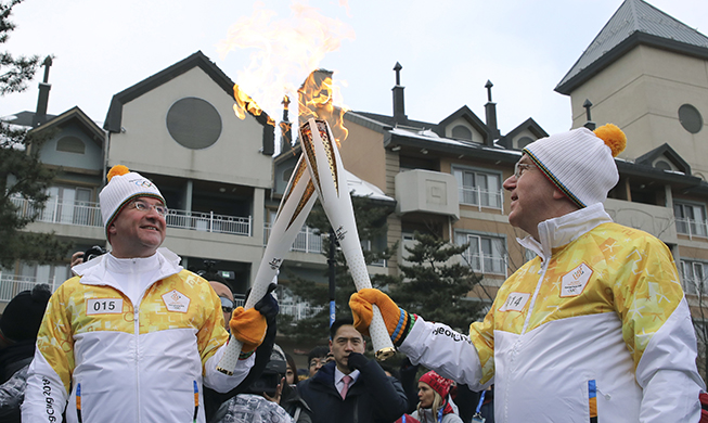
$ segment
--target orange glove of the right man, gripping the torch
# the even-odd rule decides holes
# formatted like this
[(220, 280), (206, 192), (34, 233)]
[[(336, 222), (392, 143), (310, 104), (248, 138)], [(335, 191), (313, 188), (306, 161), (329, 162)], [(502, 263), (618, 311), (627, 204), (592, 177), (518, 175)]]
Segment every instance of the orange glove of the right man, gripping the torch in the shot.
[(349, 308), (353, 316), (357, 331), (369, 335), (369, 326), (374, 316), (372, 305), (376, 305), (384, 318), (386, 330), (396, 346), (399, 346), (415, 322), (415, 317), (398, 307), (392, 299), (376, 289), (363, 289), (351, 294)]

